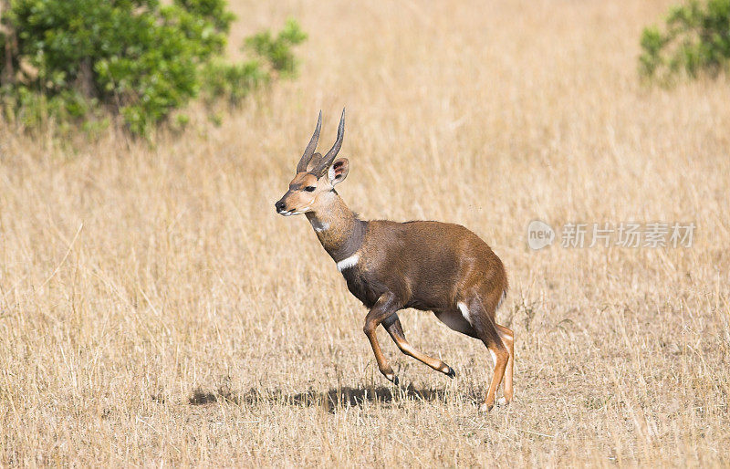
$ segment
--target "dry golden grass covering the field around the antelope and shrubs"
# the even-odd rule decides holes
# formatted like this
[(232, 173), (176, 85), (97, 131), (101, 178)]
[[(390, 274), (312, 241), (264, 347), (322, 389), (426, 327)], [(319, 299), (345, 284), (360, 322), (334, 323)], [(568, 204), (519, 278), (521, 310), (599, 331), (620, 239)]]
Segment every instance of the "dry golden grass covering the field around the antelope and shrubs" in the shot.
[[(730, 464), (730, 88), (638, 83), (670, 3), (246, 2), (236, 42), (287, 16), (310, 38), (220, 128), (69, 150), (3, 127), (0, 464)], [(275, 214), (342, 105), (353, 210), (465, 224), (504, 260), (511, 407), (476, 413), (488, 354), (425, 313), (406, 335), (457, 379), (383, 332), (388, 386), (310, 226)], [(534, 218), (698, 229), (534, 252)]]

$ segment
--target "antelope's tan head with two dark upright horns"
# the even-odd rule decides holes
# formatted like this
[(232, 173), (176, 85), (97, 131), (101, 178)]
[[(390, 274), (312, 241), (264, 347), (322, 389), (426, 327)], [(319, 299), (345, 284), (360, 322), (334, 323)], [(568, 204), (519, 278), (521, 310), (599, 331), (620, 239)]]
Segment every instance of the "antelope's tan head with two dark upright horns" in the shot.
[(339, 119), (337, 141), (324, 156), (315, 153), (321, 128), (322, 111), (320, 110), (317, 128), (297, 164), (297, 173), (289, 182), (289, 190), (274, 204), (278, 214), (288, 216), (316, 212), (318, 207), (327, 203), (335, 185), (347, 177), (348, 159), (335, 160), (342, 147), (342, 138), (345, 136), (345, 109), (342, 109), (342, 117)]

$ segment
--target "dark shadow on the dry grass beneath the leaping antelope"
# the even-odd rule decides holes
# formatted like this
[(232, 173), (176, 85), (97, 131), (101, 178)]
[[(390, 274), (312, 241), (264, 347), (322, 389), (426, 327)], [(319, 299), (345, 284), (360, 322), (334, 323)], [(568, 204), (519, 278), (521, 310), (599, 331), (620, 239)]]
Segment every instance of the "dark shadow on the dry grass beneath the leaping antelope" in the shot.
[[(235, 403), (237, 405), (254, 405), (261, 403), (278, 403), (280, 405), (295, 405), (301, 407), (318, 406), (335, 412), (340, 407), (359, 407), (365, 402), (397, 403), (399, 401), (444, 401), (447, 392), (443, 389), (418, 389), (412, 384), (405, 387), (373, 386), (352, 388), (345, 386), (333, 388), (329, 391), (304, 391), (290, 394), (284, 391), (260, 391), (255, 388), (237, 393), (222, 386), (215, 392), (195, 390), (188, 400), (191, 405), (205, 405), (218, 401)], [(462, 396), (472, 400), (472, 396)]]

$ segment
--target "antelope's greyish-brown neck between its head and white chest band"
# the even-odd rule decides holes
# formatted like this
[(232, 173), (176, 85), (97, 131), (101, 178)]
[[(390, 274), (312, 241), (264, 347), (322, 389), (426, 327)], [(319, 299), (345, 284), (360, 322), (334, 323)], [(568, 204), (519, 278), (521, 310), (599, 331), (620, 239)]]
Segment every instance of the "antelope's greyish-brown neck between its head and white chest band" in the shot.
[(338, 193), (330, 193), (327, 203), (318, 211), (309, 212), (307, 218), (319, 243), (335, 262), (347, 259), (360, 249), (367, 222), (353, 214)]

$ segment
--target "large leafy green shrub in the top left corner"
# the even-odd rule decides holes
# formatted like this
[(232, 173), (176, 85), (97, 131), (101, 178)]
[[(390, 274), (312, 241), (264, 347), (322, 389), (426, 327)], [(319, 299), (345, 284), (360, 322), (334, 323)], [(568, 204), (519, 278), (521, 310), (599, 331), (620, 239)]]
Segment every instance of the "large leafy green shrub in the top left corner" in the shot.
[(281, 57), (296, 69), (291, 47), (306, 35), (294, 21), (255, 36), (266, 36), (256, 59), (225, 63), (233, 19), (225, 0), (11, 0), (0, 18), (5, 117), (37, 127), (110, 111), (146, 134), (201, 91), (237, 102)]

